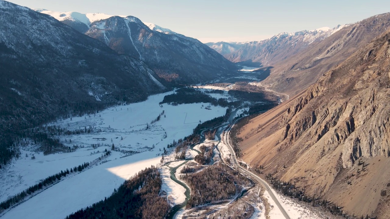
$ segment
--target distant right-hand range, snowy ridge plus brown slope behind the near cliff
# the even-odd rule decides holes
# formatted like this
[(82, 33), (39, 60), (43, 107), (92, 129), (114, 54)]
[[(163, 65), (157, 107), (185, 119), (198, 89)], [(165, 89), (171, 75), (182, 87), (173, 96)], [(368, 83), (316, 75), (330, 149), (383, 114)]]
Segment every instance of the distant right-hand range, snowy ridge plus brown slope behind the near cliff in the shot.
[(246, 42), (232, 53), (217, 51), (232, 62), (273, 67), (263, 85), (292, 96), (382, 34), (390, 24), (389, 18), (389, 14), (380, 14), (335, 28), (284, 32), (263, 41)]

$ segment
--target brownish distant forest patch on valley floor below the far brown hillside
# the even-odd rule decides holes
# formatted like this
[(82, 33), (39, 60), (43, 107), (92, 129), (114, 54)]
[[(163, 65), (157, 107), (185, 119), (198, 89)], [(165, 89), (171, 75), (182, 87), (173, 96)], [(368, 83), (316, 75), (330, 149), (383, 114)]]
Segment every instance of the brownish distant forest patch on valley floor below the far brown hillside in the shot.
[(278, 102), (277, 95), (267, 92), (263, 87), (250, 85), (246, 82), (236, 82), (228, 94), (243, 101)]

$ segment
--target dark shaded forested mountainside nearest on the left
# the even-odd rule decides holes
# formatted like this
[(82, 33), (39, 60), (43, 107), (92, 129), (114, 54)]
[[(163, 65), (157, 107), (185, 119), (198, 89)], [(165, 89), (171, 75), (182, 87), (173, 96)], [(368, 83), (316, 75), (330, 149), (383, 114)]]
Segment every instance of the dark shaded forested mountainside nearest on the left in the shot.
[(141, 101), (164, 89), (139, 59), (119, 55), (51, 16), (3, 0), (0, 77), (4, 135), (60, 115)]

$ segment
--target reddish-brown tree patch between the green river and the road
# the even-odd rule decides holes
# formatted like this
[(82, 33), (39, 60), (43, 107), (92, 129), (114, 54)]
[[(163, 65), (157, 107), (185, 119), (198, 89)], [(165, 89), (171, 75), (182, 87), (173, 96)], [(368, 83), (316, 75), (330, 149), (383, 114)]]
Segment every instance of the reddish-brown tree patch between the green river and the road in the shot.
[(250, 185), (246, 177), (222, 162), (197, 173), (187, 173), (182, 178), (191, 188), (187, 208), (227, 200)]

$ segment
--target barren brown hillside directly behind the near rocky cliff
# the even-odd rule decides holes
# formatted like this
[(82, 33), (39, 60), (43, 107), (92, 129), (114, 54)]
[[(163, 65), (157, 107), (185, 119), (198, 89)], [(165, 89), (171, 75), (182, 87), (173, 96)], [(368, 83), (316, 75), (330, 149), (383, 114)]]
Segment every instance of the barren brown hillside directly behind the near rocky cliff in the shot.
[(294, 46), (272, 51), (284, 54), (285, 57), (265, 56), (260, 60), (274, 67), (271, 75), (264, 80), (264, 84), (271, 85), (270, 88), (278, 92), (296, 95), (315, 83), (324, 72), (340, 64), (357, 49), (385, 32), (389, 26), (390, 13), (380, 14), (342, 28), (330, 37), (313, 42), (304, 49), (297, 49)]

